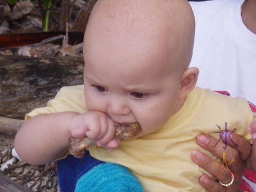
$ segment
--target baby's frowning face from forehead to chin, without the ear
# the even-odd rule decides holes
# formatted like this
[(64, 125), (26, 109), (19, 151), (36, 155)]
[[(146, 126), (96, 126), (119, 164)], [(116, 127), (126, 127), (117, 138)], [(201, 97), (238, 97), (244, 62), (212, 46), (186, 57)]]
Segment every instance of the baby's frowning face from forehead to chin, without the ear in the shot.
[(89, 111), (120, 124), (138, 122), (137, 137), (159, 130), (180, 108), (181, 74), (168, 67), (164, 42), (91, 38), (84, 46), (84, 91)]

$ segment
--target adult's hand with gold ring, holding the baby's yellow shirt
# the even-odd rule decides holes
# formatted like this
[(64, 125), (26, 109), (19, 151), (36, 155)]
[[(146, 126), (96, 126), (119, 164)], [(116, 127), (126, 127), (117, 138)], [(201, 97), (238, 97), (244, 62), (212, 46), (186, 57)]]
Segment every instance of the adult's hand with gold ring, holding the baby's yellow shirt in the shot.
[[(226, 153), (225, 160), (227, 164), (230, 163), (232, 159), (235, 160), (235, 162), (228, 165), (230, 171), (236, 175), (232, 185), (228, 187), (222, 186), (219, 182), (216, 182), (215, 179), (210, 178), (207, 175), (202, 175), (199, 178), (199, 182), (207, 191), (237, 191), (241, 184), (242, 176), (246, 167), (246, 159), (251, 153), (251, 145), (247, 142), (246, 139), (235, 133), (232, 133), (230, 137), (231, 140), (238, 145), (238, 147), (235, 147), (233, 143), (231, 143), (231, 140), (227, 139), (227, 147), (225, 150), (222, 148), (225, 147), (225, 141), (224, 143), (219, 142), (215, 147), (213, 147), (218, 142), (217, 139), (205, 134), (201, 134), (197, 137), (197, 143), (202, 148), (219, 157), (220, 159), (223, 160), (223, 153)], [(224, 140), (225, 137), (222, 137), (222, 139)], [(217, 161), (200, 152), (199, 150), (193, 152), (192, 159), (196, 164), (203, 167), (211, 175), (218, 175), (218, 181), (222, 183), (229, 183), (232, 180), (232, 175), (229, 172), (227, 166), (224, 166), (220, 172), (222, 166), (215, 167)]]

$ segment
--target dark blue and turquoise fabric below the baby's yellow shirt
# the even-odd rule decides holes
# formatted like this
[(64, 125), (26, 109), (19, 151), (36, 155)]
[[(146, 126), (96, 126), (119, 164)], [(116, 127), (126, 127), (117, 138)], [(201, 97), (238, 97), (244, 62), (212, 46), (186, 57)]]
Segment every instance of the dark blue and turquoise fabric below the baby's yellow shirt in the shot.
[(129, 169), (94, 159), (88, 151), (81, 159), (68, 155), (57, 161), (57, 173), (61, 192), (144, 191)]

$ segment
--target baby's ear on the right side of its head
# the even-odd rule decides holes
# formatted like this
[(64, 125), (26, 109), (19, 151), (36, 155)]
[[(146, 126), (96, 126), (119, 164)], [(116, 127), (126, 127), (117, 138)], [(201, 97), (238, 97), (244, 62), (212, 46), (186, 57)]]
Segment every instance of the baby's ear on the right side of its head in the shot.
[(198, 68), (188, 68), (182, 75), (179, 99), (185, 99), (186, 96), (194, 89), (199, 74)]

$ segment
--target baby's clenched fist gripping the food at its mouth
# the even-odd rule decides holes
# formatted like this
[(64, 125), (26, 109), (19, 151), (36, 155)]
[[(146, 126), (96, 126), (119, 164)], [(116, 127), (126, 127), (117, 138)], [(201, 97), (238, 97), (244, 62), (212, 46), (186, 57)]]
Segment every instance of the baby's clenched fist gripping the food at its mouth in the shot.
[(116, 125), (105, 113), (93, 111), (76, 115), (69, 126), (72, 138), (88, 137), (96, 140), (98, 146), (115, 148), (118, 141), (113, 139)]

